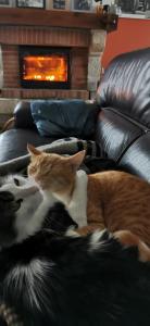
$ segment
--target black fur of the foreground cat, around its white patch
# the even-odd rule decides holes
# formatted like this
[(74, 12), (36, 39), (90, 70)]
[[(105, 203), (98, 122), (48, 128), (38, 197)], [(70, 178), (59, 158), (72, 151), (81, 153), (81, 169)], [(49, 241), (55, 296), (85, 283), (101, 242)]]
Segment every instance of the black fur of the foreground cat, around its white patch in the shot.
[[(102, 249), (91, 252), (90, 237), (67, 238), (42, 230), (1, 252), (0, 292), (24, 325), (149, 325), (150, 266), (139, 263), (136, 252), (122, 250), (107, 233)], [(33, 293), (25, 279), (22, 289), (13, 281), (7, 288), (4, 283), (12, 268), (27, 266), (35, 259), (50, 266), (41, 284), (35, 276), (41, 311), (29, 305)]]

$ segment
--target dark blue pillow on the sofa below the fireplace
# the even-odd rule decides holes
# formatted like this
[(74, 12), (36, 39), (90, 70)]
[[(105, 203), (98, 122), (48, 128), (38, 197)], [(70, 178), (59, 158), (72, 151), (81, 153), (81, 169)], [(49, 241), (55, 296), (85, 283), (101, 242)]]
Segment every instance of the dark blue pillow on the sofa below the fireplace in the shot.
[(36, 100), (30, 102), (34, 122), (40, 136), (92, 138), (97, 104), (83, 100)]

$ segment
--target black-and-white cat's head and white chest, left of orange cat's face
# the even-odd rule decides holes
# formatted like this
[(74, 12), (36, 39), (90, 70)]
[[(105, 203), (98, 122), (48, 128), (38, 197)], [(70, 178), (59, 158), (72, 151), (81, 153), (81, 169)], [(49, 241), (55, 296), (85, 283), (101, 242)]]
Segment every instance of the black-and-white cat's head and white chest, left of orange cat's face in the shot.
[[(43, 197), (34, 180), (22, 175), (8, 175), (1, 178), (0, 185), (0, 212), (4, 214), (3, 221), (0, 217), (0, 246), (21, 242), (46, 226), (46, 223), (49, 223), (49, 227), (59, 228), (59, 221), (53, 224), (54, 204), (58, 200), (52, 195), (49, 198)], [(58, 203), (57, 206), (60, 210), (63, 205)], [(49, 220), (52, 208), (53, 217)], [(76, 226), (76, 223), (65, 211), (65, 229), (71, 225)], [(63, 228), (62, 223), (61, 227)]]

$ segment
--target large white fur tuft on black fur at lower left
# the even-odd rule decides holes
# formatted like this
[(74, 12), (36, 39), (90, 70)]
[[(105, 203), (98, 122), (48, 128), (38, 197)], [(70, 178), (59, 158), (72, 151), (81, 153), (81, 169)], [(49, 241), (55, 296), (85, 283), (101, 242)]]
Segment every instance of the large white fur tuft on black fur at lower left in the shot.
[[(40, 310), (41, 302), (47, 305), (47, 278), (48, 272), (54, 263), (33, 260), (27, 265), (17, 265), (5, 278), (5, 286), (14, 288), (14, 292), (23, 293), (27, 297), (27, 302), (32, 308)], [(49, 308), (48, 308), (49, 309)]]

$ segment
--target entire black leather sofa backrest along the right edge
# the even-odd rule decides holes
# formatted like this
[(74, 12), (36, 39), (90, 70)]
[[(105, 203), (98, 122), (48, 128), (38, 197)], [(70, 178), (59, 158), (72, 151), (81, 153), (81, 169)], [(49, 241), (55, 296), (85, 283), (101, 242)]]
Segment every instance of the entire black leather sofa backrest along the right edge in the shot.
[(97, 141), (109, 158), (150, 180), (150, 48), (110, 63), (97, 102)]

